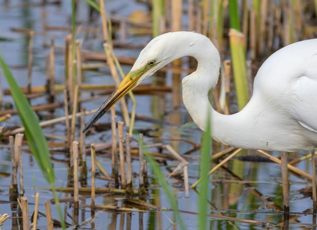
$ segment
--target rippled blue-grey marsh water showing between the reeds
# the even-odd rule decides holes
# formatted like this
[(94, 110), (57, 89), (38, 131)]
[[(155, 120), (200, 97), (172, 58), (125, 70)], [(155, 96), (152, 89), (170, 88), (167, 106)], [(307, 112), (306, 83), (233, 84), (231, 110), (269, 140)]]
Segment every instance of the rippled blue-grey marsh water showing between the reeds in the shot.
[[(33, 65), (32, 65), (32, 86), (42, 86), (47, 82), (46, 79), (46, 58), (49, 53), (48, 44), (54, 37), (55, 42), (55, 81), (58, 84), (64, 84), (64, 54), (63, 47), (65, 45), (65, 37), (70, 33), (70, 1), (62, 1), (60, 4), (42, 5), (40, 1), (0, 1), (0, 54), (10, 66), (13, 75), (21, 87), (27, 84), (27, 63), (28, 63), (28, 44), (29, 36), (23, 31), (23, 28), (35, 31), (34, 47), (33, 47)], [(111, 14), (117, 14), (122, 17), (128, 17), (136, 10), (146, 10), (141, 3), (134, 1), (106, 1), (106, 10)], [(81, 26), (89, 25), (88, 10), (85, 3), (80, 2), (77, 14), (77, 39), (82, 42), (82, 49), (85, 51), (102, 52), (102, 38), (93, 37), (87, 32), (81, 31)], [(95, 27), (100, 26), (100, 21), (92, 22)], [(53, 28), (55, 27), (55, 29)], [(66, 29), (65, 29), (66, 27)], [(68, 29), (67, 29), (68, 28)], [(98, 33), (97, 33), (98, 35)], [(150, 40), (150, 35), (129, 34), (126, 42), (139, 45), (140, 47)], [(114, 52), (117, 56), (136, 58), (140, 48), (115, 48)], [(131, 66), (124, 65), (125, 73), (129, 71)], [(97, 70), (85, 70), (84, 81), (89, 84), (113, 84), (108, 68), (101, 67)], [(2, 73), (0, 74), (0, 76)], [(185, 74), (183, 74), (185, 75)], [(183, 77), (182, 75), (182, 77)], [(166, 74), (167, 84), (171, 86), (172, 74)], [(151, 82), (149, 80), (148, 82)], [(8, 88), (8, 84), (3, 76), (1, 76), (2, 89)], [(84, 91), (84, 98), (90, 97), (89, 91)], [(104, 98), (93, 100), (91, 102), (82, 103), (82, 107), (87, 110), (98, 108)], [(155, 98), (156, 97), (156, 98)], [(57, 93), (55, 100), (63, 102), (63, 93)], [(145, 143), (152, 143), (152, 136), (160, 136), (161, 142), (170, 144), (180, 155), (184, 155), (189, 162), (188, 173), (189, 183), (194, 183), (199, 177), (199, 159), (200, 151), (195, 150), (188, 153), (192, 148), (190, 144), (182, 140), (201, 144), (202, 132), (199, 128), (191, 123), (191, 119), (187, 114), (183, 104), (179, 107), (172, 106), (171, 93), (164, 93), (159, 96), (164, 107), (159, 116), (157, 110), (153, 106), (158, 106), (157, 96), (150, 94), (136, 95), (138, 115), (146, 117), (161, 117), (165, 123), (154, 124), (147, 120), (137, 120), (135, 130), (146, 132), (144, 136)], [(31, 99), (32, 105), (46, 104), (46, 97)], [(5, 105), (13, 105), (13, 99), (10, 95), (4, 95), (2, 101), (2, 109)], [(13, 105), (14, 106), (14, 105)], [(132, 102), (128, 100), (128, 108), (131, 110)], [(117, 110), (119, 108), (117, 107)], [(61, 117), (64, 116), (64, 109), (57, 108), (52, 114), (47, 112), (39, 112), (41, 119), (46, 116)], [(87, 116), (86, 121), (90, 116)], [(117, 120), (122, 120), (120, 115)], [(100, 119), (100, 122), (109, 123), (110, 115), (106, 114)], [(20, 126), (21, 122), (17, 115), (12, 116), (6, 121), (6, 126)], [(77, 132), (80, 130), (78, 129)], [(66, 140), (64, 124), (44, 128), (46, 134), (51, 136), (59, 136), (60, 142)], [(137, 132), (137, 131), (136, 131)], [(175, 141), (175, 138), (178, 138)], [(110, 142), (111, 131), (106, 130), (94, 135), (88, 135), (86, 143), (108, 143)], [(214, 143), (213, 153), (217, 153), (226, 147)], [(8, 213), (10, 216), (19, 216), (18, 210), (13, 208), (16, 204), (10, 200), (10, 184), (11, 184), (11, 160), (10, 150), (7, 142), (2, 142), (0, 147), (0, 213)], [(153, 148), (154, 151), (158, 151)], [(255, 151), (243, 151), (239, 157), (235, 157), (218, 169), (210, 176), (210, 193), (209, 193), (209, 213), (221, 214), (224, 216), (236, 217), (241, 219), (250, 219), (271, 223), (272, 226), (260, 226), (239, 221), (230, 221), (225, 218), (207, 217), (209, 221), (209, 229), (262, 229), (262, 228), (280, 228), (283, 225), (283, 196), (281, 182), (281, 168), (279, 164), (267, 161), (245, 161), (242, 156), (254, 156)], [(279, 152), (271, 153), (279, 156)], [(307, 153), (296, 152), (290, 153), (290, 159), (298, 158)], [(257, 154), (258, 155), (258, 154)], [(111, 158), (108, 152), (97, 152), (97, 160), (111, 174)], [(54, 151), (53, 165), (56, 173), (56, 187), (67, 186), (67, 160), (66, 155), (61, 151)], [(65, 161), (64, 161), (65, 160)], [(177, 166), (175, 160), (164, 160), (160, 162), (161, 170), (164, 175), (168, 175), (171, 170)], [(91, 158), (87, 156), (88, 165), (88, 186), (91, 181)], [(211, 164), (213, 167), (215, 163)], [(296, 167), (311, 173), (311, 164), (309, 160), (296, 164)], [(138, 173), (139, 161), (133, 160), (133, 171)], [(44, 203), (53, 198), (48, 183), (42, 176), (42, 172), (36, 165), (33, 157), (28, 151), (27, 145), (23, 148), (23, 175), (25, 195), (29, 202), (29, 216), (34, 210), (34, 194), (39, 193), (39, 211), (45, 213)], [(157, 185), (157, 181), (151, 177), (152, 172), (149, 169), (149, 178), (151, 187), (148, 191), (147, 201), (160, 207), (170, 208), (169, 199), (164, 190)], [(311, 186), (311, 182), (303, 179), (295, 174), (290, 173), (290, 220), (289, 229), (314, 229), (315, 214), (312, 213), (312, 200), (309, 196), (301, 193), (301, 190)], [(134, 177), (135, 184), (138, 184), (138, 176)], [(194, 190), (189, 190), (186, 194), (184, 191), (183, 180), (181, 176), (171, 177), (167, 179), (171, 186), (175, 197), (177, 198), (178, 209), (181, 211), (181, 218), (185, 223), (185, 229), (197, 229), (197, 198), (198, 194)], [(101, 178), (96, 179), (97, 188), (111, 187), (112, 182)], [(61, 198), (68, 197), (69, 194), (61, 192)], [(125, 205), (122, 201), (124, 195), (101, 195), (96, 197), (96, 204), (99, 205)], [(81, 204), (90, 204), (90, 198), (80, 200)], [(180, 229), (175, 219), (174, 211), (149, 210), (146, 212), (130, 212), (120, 213), (114, 211), (97, 210), (95, 219), (91, 219), (90, 207), (81, 206), (79, 211), (78, 225), (72, 222), (66, 213), (73, 214), (73, 206), (69, 203), (62, 203), (62, 210), (65, 220), (72, 223), (69, 228), (79, 229)], [(56, 207), (52, 204), (53, 218), (59, 219)], [(174, 221), (174, 222), (173, 222)], [(174, 224), (173, 224), (174, 223)], [(46, 218), (40, 216), (38, 219), (38, 229), (46, 229)], [(1, 229), (21, 229), (19, 218), (9, 218), (1, 226)]]

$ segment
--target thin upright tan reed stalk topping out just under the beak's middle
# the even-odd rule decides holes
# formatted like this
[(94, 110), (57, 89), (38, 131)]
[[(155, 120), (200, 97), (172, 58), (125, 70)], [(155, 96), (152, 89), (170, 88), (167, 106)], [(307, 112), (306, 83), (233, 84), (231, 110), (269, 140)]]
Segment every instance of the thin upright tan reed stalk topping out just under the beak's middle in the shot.
[(114, 176), (114, 186), (118, 188), (119, 181), (118, 181), (118, 155), (117, 155), (117, 142), (116, 142), (116, 128), (115, 128), (115, 106), (112, 107), (111, 111), (111, 140), (112, 140), (112, 148), (111, 148), (111, 164), (113, 167), (113, 176)]

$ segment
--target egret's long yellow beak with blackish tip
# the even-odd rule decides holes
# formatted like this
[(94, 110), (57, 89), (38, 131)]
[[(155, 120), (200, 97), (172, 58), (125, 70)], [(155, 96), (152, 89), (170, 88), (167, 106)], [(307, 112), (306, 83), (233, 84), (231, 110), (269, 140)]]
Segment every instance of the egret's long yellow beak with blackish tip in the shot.
[(97, 112), (93, 115), (90, 121), (86, 124), (83, 132), (87, 131), (97, 120), (100, 119), (118, 100), (123, 98), (129, 93), (135, 86), (138, 79), (142, 76), (141, 74), (136, 74), (136, 72), (130, 72), (123, 79), (123, 81), (118, 85), (116, 90), (110, 95), (110, 97), (100, 106)]

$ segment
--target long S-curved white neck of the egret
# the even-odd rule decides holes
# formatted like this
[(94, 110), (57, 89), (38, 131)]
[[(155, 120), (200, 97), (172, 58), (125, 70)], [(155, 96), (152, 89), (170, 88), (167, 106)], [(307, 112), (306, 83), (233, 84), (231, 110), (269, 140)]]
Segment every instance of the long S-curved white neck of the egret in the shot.
[[(218, 142), (236, 146), (233, 127), (243, 127), (238, 114), (223, 115), (215, 111), (209, 101), (210, 90), (217, 84), (220, 69), (220, 57), (215, 46), (210, 42), (197, 45), (194, 54), (187, 54), (197, 60), (197, 69), (182, 80), (183, 102), (195, 124), (206, 130), (207, 119), (211, 119), (212, 137)], [(239, 113), (241, 114), (241, 112)], [(239, 118), (240, 117), (240, 118)], [(239, 120), (239, 121), (238, 121)], [(235, 128), (233, 128), (235, 129)]]

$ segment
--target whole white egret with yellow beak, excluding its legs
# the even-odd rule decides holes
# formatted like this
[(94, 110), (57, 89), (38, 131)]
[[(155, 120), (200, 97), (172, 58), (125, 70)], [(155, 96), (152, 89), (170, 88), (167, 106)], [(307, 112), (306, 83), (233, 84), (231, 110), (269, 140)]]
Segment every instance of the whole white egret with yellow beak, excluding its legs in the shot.
[(184, 105), (202, 130), (211, 116), (216, 141), (275, 151), (317, 146), (317, 39), (296, 42), (271, 55), (255, 77), (250, 102), (238, 113), (223, 115), (208, 99), (220, 69), (219, 53), (210, 39), (195, 32), (163, 34), (141, 51), (130, 73), (85, 130), (142, 80), (184, 56), (197, 60), (196, 71), (182, 80)]

